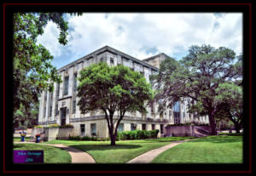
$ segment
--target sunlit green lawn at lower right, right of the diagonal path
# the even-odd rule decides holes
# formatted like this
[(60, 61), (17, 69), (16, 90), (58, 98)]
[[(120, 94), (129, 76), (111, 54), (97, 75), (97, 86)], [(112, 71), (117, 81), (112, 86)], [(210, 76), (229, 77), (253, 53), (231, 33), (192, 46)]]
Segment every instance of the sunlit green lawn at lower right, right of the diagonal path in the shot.
[(153, 163), (242, 163), (242, 136), (208, 136), (177, 145)]

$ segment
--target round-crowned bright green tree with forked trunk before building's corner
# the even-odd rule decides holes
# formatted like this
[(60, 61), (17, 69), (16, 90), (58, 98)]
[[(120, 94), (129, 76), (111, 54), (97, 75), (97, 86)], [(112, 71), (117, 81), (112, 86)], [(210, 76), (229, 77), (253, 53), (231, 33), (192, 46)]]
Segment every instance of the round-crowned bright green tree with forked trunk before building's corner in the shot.
[(102, 111), (108, 123), (111, 145), (115, 145), (117, 129), (125, 112), (146, 112), (144, 103), (153, 96), (151, 85), (137, 71), (123, 65), (111, 67), (103, 62), (84, 68), (79, 75), (81, 113)]

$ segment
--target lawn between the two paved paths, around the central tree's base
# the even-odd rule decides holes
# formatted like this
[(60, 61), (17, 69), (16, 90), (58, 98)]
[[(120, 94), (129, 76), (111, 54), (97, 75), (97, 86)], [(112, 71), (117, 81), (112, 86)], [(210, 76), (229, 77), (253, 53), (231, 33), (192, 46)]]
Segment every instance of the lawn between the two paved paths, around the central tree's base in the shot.
[(68, 145), (89, 153), (96, 163), (125, 163), (134, 157), (140, 156), (148, 150), (154, 150), (172, 141), (191, 139), (191, 137), (166, 137), (160, 139), (138, 139), (116, 141), (115, 146), (110, 141), (76, 141), (76, 140), (53, 140), (49, 144)]

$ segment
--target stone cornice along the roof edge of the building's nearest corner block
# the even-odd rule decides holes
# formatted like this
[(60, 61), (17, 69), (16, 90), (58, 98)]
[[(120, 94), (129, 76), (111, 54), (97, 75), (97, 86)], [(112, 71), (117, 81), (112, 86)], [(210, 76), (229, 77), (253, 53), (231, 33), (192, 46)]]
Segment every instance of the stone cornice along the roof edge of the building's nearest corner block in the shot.
[(85, 59), (88, 59), (88, 58), (90, 58), (92, 55), (95, 55), (95, 54), (102, 54), (103, 52), (106, 52), (106, 51), (107, 51), (107, 52), (110, 52), (110, 53), (117, 53), (117, 54), (120, 54), (121, 56), (125, 56), (125, 58), (127, 58), (127, 59), (129, 59), (129, 60), (135, 60), (135, 61), (137, 61), (138, 63), (140, 63), (140, 64), (142, 64), (142, 65), (145, 65), (145, 66), (147, 66), (147, 67), (149, 67), (149, 68), (151, 68), (151, 69), (153, 69), (153, 70), (155, 70), (155, 71), (159, 71), (159, 69), (158, 69), (157, 67), (155, 67), (155, 66), (153, 66), (153, 65), (149, 65), (148, 63), (144, 62), (143, 60), (138, 60), (137, 58), (134, 58), (134, 57), (132, 57), (132, 56), (129, 55), (129, 54), (125, 54), (125, 53), (123, 53), (123, 52), (121, 52), (121, 51), (119, 51), (119, 50), (117, 50), (117, 49), (115, 49), (115, 48), (111, 48), (111, 47), (109, 47), (108, 45), (106, 45), (106, 46), (104, 46), (104, 47), (102, 47), (102, 48), (97, 49), (96, 51), (94, 51), (94, 52), (92, 52), (92, 53), (90, 53), (90, 54), (87, 54), (87, 55), (83, 56), (83, 57), (80, 58), (79, 60), (75, 60), (75, 61), (73, 61), (73, 62), (71, 62), (71, 63), (69, 63), (69, 64), (67, 64), (67, 65), (62, 66), (61, 68), (58, 69), (58, 72), (61, 72), (63, 69), (66, 69), (67, 67), (69, 67), (69, 66), (71, 66), (71, 65), (74, 65), (74, 64), (76, 64), (76, 63), (79, 63), (79, 62), (81, 62), (81, 61), (83, 61), (83, 60), (85, 60)]

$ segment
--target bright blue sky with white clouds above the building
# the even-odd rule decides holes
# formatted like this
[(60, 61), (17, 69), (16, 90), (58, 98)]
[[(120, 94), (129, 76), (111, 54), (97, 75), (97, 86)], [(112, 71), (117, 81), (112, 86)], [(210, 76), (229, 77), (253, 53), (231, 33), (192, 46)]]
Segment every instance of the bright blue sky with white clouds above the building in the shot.
[(51, 21), (38, 37), (57, 69), (106, 45), (138, 60), (160, 53), (181, 60), (191, 45), (202, 44), (242, 52), (241, 13), (84, 13), (65, 19), (67, 45), (58, 43), (60, 30)]

